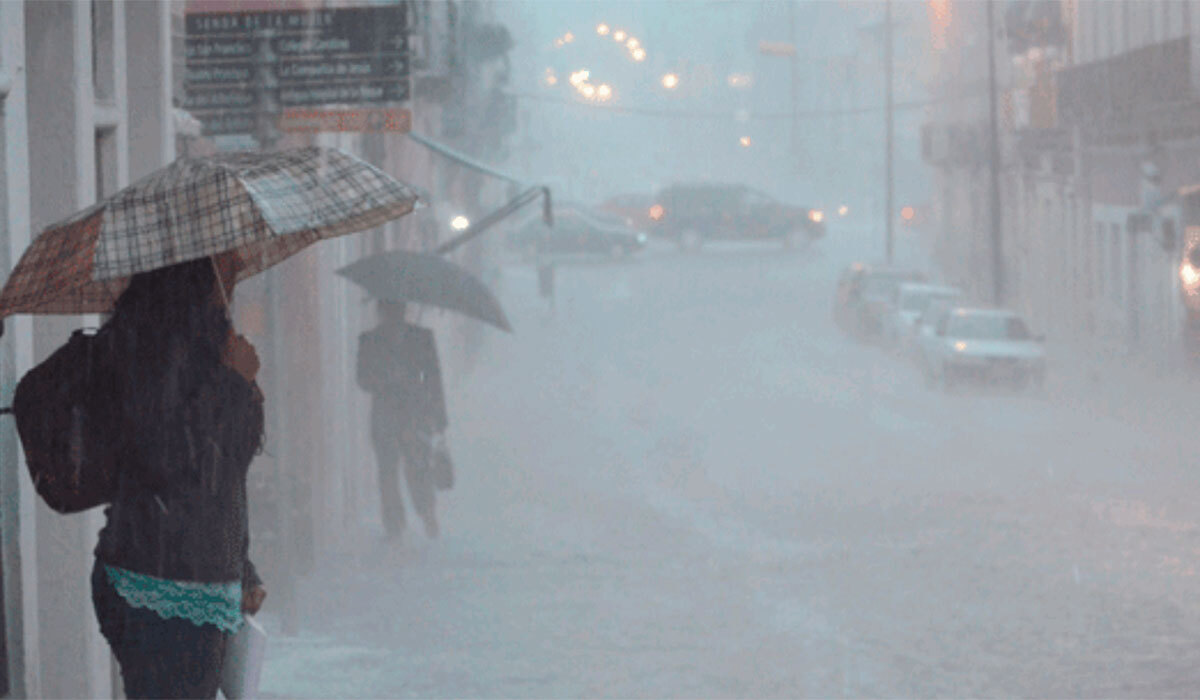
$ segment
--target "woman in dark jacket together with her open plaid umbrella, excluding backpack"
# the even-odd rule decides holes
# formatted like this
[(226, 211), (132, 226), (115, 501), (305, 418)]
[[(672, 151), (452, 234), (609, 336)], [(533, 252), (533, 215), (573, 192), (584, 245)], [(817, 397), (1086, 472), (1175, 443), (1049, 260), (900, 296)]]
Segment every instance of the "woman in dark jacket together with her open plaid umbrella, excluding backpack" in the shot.
[(263, 396), (234, 282), (415, 204), (337, 149), (180, 158), (48, 227), (10, 274), (0, 318), (112, 313), (95, 343), (116, 370), (120, 451), (95, 501), (109, 507), (92, 586), (130, 698), (216, 696), (229, 633), (265, 597), (246, 514)]

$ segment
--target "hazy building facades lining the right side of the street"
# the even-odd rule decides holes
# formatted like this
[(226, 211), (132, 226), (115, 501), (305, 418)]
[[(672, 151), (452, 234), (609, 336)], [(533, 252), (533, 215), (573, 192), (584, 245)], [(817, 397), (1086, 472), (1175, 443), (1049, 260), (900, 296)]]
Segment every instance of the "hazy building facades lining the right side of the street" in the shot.
[[(942, 70), (929, 72), (938, 100), (925, 125), (932, 247), (952, 279), (989, 298), (986, 4), (930, 7), (944, 25), (930, 42)], [(1200, 4), (1037, 0), (994, 12), (1002, 301), (1052, 336), (1157, 367), (1194, 364), (1200, 275), (1186, 258), (1200, 239)]]

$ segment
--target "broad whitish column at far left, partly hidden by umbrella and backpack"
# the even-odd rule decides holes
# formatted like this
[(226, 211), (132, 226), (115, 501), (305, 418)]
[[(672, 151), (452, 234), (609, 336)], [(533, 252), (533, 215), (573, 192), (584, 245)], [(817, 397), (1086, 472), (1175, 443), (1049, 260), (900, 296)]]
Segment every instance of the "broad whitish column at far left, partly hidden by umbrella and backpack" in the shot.
[[(89, 0), (25, 5), (34, 231), (95, 201), (97, 109), (91, 10)], [(59, 347), (80, 321), (35, 321), (35, 355), (44, 357)], [(107, 650), (91, 609), (88, 575), (100, 514), (62, 516), (38, 502), (35, 516), (41, 692), (60, 698), (107, 695)]]

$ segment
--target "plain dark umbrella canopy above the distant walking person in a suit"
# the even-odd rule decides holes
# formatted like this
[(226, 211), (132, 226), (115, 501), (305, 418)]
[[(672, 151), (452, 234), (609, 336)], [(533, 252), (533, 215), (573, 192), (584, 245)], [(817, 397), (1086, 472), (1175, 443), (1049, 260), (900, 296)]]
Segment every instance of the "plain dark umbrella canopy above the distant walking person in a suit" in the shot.
[(337, 270), (376, 299), (428, 304), (512, 331), (500, 303), (460, 265), (432, 253), (391, 251)]

